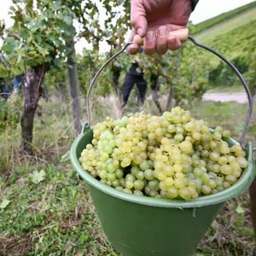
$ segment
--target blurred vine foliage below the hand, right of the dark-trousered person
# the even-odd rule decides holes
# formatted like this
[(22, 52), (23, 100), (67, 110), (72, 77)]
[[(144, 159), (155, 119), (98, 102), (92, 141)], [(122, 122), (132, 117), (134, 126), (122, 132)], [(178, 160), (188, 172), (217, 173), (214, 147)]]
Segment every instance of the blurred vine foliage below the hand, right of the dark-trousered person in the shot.
[[(189, 55), (189, 57), (188, 57)], [(194, 102), (200, 100), (207, 90), (207, 70), (202, 68), (207, 59), (197, 55), (192, 44), (183, 44), (183, 49), (169, 51), (166, 55), (142, 57), (145, 78), (150, 84), (152, 76), (159, 77), (160, 93), (168, 93), (174, 89), (174, 98), (178, 102)], [(191, 65), (191, 63), (196, 65)]]

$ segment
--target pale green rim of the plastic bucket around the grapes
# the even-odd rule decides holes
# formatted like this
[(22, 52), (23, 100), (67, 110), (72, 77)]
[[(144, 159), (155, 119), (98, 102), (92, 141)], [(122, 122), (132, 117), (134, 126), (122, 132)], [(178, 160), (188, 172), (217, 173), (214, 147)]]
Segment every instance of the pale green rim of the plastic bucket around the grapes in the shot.
[[(213, 195), (200, 196), (198, 198), (191, 199), (190, 201), (184, 201), (182, 199), (160, 199), (147, 196), (132, 195), (118, 189), (114, 189), (113, 187), (109, 187), (108, 185), (101, 183), (95, 177), (90, 176), (88, 172), (84, 171), (77, 157), (77, 148), (79, 142), (86, 136), (86, 134), (87, 132), (76, 137), (70, 149), (70, 160), (76, 172), (79, 173), (79, 176), (82, 177), (86, 183), (89, 183), (96, 189), (99, 189), (108, 195), (112, 195), (113, 197), (119, 198), (120, 200), (130, 201), (137, 204), (148, 205), (151, 207), (193, 208), (206, 207), (209, 205), (222, 203), (235, 197), (236, 195), (240, 195), (243, 191), (245, 191), (250, 186), (250, 184), (253, 183), (253, 178), (256, 172), (253, 161), (252, 143), (247, 143), (246, 152), (248, 166), (243, 170), (238, 181), (229, 189), (224, 189), (223, 191)], [(225, 141), (234, 145), (240, 144), (230, 137), (226, 138)]]

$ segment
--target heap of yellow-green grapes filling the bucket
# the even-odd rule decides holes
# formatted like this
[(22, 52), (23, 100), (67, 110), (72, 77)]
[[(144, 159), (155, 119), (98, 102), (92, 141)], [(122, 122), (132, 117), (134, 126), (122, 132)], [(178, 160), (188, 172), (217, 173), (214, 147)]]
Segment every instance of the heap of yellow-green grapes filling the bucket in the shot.
[(79, 162), (126, 193), (189, 201), (230, 188), (247, 167), (245, 151), (223, 137), (230, 131), (211, 131), (180, 107), (161, 116), (131, 113), (96, 124)]

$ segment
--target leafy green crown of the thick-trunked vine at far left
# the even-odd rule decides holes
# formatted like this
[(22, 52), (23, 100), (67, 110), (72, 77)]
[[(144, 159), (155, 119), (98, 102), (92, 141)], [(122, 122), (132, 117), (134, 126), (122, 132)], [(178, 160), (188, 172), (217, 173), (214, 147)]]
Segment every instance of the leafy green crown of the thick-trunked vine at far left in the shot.
[(73, 14), (66, 5), (41, 1), (33, 8), (33, 1), (17, 0), (9, 14), (15, 24), (2, 31), (1, 50), (7, 55), (10, 76), (23, 73), (26, 67), (58, 61), (67, 53), (63, 38), (73, 37), (75, 31), (70, 29)]

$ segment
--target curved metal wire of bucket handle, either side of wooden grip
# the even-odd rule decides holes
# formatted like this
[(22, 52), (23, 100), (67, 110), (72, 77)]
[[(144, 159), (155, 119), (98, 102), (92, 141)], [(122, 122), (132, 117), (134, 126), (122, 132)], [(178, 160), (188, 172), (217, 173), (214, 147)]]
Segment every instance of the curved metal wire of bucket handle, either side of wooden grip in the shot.
[[(205, 44), (200, 44), (198, 43), (195, 38), (193, 38), (192, 36), (188, 36), (188, 38), (191, 40), (191, 42), (193, 44), (195, 44), (195, 46), (201, 47), (202, 49), (207, 49), (208, 51), (212, 52), (212, 54), (217, 55), (222, 61), (224, 61), (228, 66), (230, 66), (232, 68), (232, 70), (234, 71), (234, 73), (236, 73), (236, 76), (240, 79), (241, 84), (243, 85), (244, 89), (246, 90), (247, 93), (247, 98), (248, 98), (248, 102), (249, 102), (249, 108), (248, 108), (248, 112), (247, 112), (247, 118), (245, 120), (245, 124), (243, 127), (243, 131), (241, 132), (241, 139), (240, 139), (240, 144), (241, 144), (241, 148), (243, 148), (244, 150), (246, 150), (246, 146), (245, 146), (245, 137), (247, 134), (247, 129), (248, 129), (248, 125), (250, 123), (251, 117), (252, 117), (252, 113), (253, 113), (253, 96), (249, 90), (249, 87), (245, 81), (245, 79), (243, 78), (243, 76), (241, 75), (241, 73), (238, 71), (238, 69), (227, 59), (224, 57), (224, 55), (221, 55), (220, 53), (218, 53), (218, 51), (216, 51), (215, 49), (212, 49), (211, 47), (205, 45)], [(92, 79), (92, 81), (90, 82), (90, 86), (89, 89), (87, 91), (87, 96), (86, 96), (86, 112), (87, 112), (87, 123), (84, 124), (84, 129), (90, 127), (90, 90), (93, 86), (93, 84), (95, 83), (98, 75), (102, 72), (102, 69), (104, 69), (104, 67), (108, 66), (108, 63), (110, 61), (112, 61), (114, 58), (116, 58), (118, 55), (120, 55), (121, 53), (123, 53), (125, 51), (125, 49), (130, 45), (133, 44), (133, 42), (129, 42), (126, 43), (125, 46), (119, 50), (118, 53), (116, 53), (115, 55), (113, 55), (112, 57), (110, 57), (108, 59), (108, 61), (106, 61), (102, 67), (97, 71), (95, 77)], [(256, 147), (253, 148), (253, 151), (256, 150)]]

